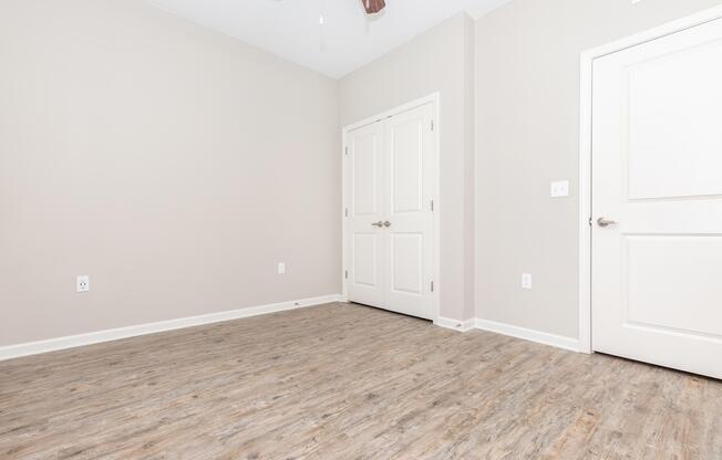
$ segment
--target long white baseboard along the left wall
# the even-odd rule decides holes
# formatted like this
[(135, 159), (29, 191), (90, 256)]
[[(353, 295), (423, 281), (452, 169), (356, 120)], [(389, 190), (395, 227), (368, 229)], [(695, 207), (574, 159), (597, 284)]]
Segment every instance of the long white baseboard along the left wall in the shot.
[(200, 316), (189, 316), (177, 320), (161, 321), (157, 323), (138, 324), (136, 326), (50, 338), (40, 342), (9, 345), (0, 347), (0, 360), (38, 355), (41, 353), (56, 352), (60, 349), (74, 348), (102, 342), (117, 341), (121, 338), (136, 337), (138, 335), (155, 334), (158, 332), (200, 326), (204, 324), (220, 323), (224, 321), (240, 320), (244, 317), (265, 315), (268, 313), (285, 312), (287, 310), (296, 310), (340, 301), (341, 294), (323, 295), (320, 297), (280, 302), (260, 306), (250, 306), (246, 309), (231, 310), (228, 312), (210, 313)]

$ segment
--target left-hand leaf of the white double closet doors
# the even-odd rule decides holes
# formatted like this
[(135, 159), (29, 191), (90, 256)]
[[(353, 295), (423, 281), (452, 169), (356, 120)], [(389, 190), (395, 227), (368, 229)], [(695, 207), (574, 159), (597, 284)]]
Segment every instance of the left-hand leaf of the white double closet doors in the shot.
[(348, 135), (349, 297), (384, 304), (384, 155), (383, 125), (374, 123)]

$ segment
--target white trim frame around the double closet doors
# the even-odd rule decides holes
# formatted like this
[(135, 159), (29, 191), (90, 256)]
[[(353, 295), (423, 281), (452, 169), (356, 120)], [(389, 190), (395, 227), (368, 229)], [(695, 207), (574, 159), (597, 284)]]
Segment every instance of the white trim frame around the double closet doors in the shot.
[(342, 231), (342, 237), (341, 237), (341, 254), (342, 254), (342, 265), (341, 265), (341, 280), (342, 280), (342, 299), (343, 302), (349, 301), (349, 280), (345, 279), (345, 271), (348, 270), (348, 236), (347, 236), (347, 218), (345, 218), (345, 208), (348, 207), (348, 197), (347, 197), (347, 172), (348, 172), (348, 156), (345, 155), (345, 148), (348, 147), (348, 134), (354, 129), (361, 128), (363, 126), (370, 125), (375, 122), (380, 122), (384, 118), (392, 117), (394, 115), (400, 115), (404, 112), (409, 112), (413, 108), (420, 107), (425, 104), (432, 104), (432, 113), (433, 113), (433, 119), (434, 119), (434, 132), (433, 132), (433, 138), (434, 138), (434, 144), (436, 148), (434, 149), (434, 160), (433, 165), (435, 168), (434, 171), (434, 178), (435, 178), (435, 184), (433, 186), (433, 196), (434, 196), (434, 212), (432, 213), (432, 220), (433, 220), (433, 236), (432, 236), (432, 244), (433, 244), (433, 261), (432, 261), (432, 271), (433, 271), (433, 278), (434, 278), (434, 292), (433, 292), (433, 297), (432, 297), (432, 321), (436, 322), (439, 320), (439, 312), (440, 312), (440, 299), (441, 299), (441, 290), (443, 289), (440, 282), (441, 279), (441, 221), (440, 221), (440, 213), (441, 213), (441, 129), (442, 129), (442, 123), (441, 123), (441, 93), (432, 93), (427, 96), (417, 98), (415, 101), (409, 102), (406, 104), (402, 104), (398, 107), (391, 108), (389, 111), (382, 112), (378, 115), (370, 116), (368, 118), (364, 118), (360, 122), (352, 123), (350, 125), (344, 126), (341, 129), (341, 157), (343, 158), (342, 161), (342, 170), (341, 170), (341, 188), (342, 188), (342, 199), (341, 199), (341, 231)]

